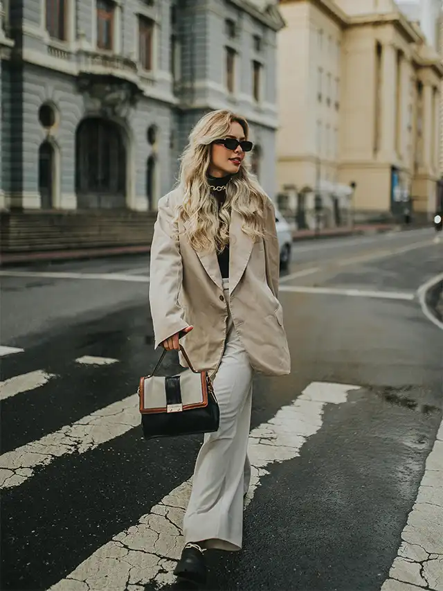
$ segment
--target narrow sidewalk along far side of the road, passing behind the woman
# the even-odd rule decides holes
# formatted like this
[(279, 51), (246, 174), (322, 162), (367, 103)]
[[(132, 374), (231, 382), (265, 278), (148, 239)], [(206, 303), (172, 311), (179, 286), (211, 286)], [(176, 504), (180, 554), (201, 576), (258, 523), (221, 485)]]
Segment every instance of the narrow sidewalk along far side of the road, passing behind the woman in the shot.
[[(381, 233), (388, 231), (402, 231), (404, 228), (396, 224), (365, 224), (356, 225), (354, 229), (329, 228), (320, 230), (293, 230), (293, 240), (320, 240), (324, 238), (339, 238), (340, 236), (358, 236), (365, 233)], [(413, 229), (413, 227), (408, 227)], [(144, 254), (150, 252), (150, 245), (122, 246), (122, 247), (103, 247), (95, 249), (77, 249), (77, 250), (55, 250), (46, 252), (17, 252), (0, 254), (0, 267), (4, 265), (14, 265), (27, 263), (38, 263), (40, 261), (73, 261), (87, 258), (100, 258), (105, 256), (121, 256), (125, 254)]]

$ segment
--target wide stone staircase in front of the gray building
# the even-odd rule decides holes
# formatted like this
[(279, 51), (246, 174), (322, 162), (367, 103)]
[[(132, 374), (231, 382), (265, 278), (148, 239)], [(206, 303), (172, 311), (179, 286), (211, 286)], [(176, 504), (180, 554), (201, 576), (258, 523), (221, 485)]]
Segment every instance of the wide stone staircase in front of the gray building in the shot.
[(30, 253), (150, 245), (155, 212), (2, 211), (0, 252)]

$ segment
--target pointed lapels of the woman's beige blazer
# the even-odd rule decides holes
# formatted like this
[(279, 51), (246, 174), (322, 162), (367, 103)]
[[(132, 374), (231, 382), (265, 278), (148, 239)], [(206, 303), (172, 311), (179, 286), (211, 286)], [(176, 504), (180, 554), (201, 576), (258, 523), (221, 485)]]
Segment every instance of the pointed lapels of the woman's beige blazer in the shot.
[[(186, 227), (185, 222), (185, 227)], [(246, 265), (248, 264), (254, 242), (242, 230), (242, 217), (233, 211), (230, 215), (229, 226), (229, 293), (238, 285)], [(223, 288), (219, 261), (215, 252), (197, 252), (201, 264), (220, 289)]]

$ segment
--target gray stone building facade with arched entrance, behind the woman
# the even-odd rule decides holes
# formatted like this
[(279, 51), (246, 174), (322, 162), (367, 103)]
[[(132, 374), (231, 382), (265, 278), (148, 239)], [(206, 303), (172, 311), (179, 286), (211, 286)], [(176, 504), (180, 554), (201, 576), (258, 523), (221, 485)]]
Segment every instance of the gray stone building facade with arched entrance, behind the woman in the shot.
[[(48, 33), (46, 2), (57, 4), (3, 0), (0, 209), (155, 210), (159, 197), (174, 185), (192, 125), (208, 110), (224, 107), (251, 123), (251, 139), (260, 147), (257, 175), (275, 197), (275, 37), (283, 26), (275, 2), (107, 0), (109, 51), (98, 48), (96, 0), (64, 0), (63, 40)], [(140, 17), (152, 24), (150, 69), (143, 69), (139, 55)], [(226, 46), (235, 50), (233, 92), (227, 87)], [(258, 100), (254, 61), (261, 64)], [(42, 105), (53, 116), (49, 123), (43, 121)], [(80, 141), (87, 119), (93, 126)], [(105, 123), (97, 130), (99, 120)], [(154, 141), (148, 137), (150, 127)], [(108, 168), (100, 164), (106, 168), (103, 178), (115, 177), (114, 184), (106, 181), (103, 195), (79, 188), (92, 166), (93, 151), (88, 157), (82, 152), (92, 150), (87, 133), (91, 142), (107, 134), (114, 150), (111, 169), (118, 170), (108, 170), (109, 162)]]

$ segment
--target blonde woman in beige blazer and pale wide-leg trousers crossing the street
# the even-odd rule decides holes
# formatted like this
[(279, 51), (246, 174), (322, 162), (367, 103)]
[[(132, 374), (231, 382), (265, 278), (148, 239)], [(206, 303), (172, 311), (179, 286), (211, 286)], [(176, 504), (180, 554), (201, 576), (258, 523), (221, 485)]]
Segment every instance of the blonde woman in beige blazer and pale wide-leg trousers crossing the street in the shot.
[(248, 131), (229, 111), (201, 118), (179, 185), (159, 201), (151, 249), (155, 346), (178, 350), (183, 337), (195, 369), (213, 376), (220, 407), (219, 430), (206, 434), (197, 458), (174, 571), (197, 583), (206, 580), (206, 549), (242, 547), (253, 373), (290, 371), (275, 213), (244, 161)]

